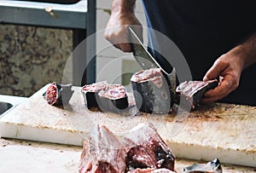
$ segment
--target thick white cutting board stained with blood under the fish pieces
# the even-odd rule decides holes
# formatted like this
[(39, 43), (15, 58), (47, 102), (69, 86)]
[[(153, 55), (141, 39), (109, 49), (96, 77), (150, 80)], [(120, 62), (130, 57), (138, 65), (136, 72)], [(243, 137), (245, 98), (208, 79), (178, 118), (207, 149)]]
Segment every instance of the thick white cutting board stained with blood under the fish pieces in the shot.
[(50, 106), (42, 96), (47, 86), (0, 118), (0, 136), (81, 146), (96, 124), (124, 136), (151, 122), (178, 158), (256, 166), (256, 107), (216, 103), (189, 114), (119, 115), (86, 109), (80, 87), (64, 109)]

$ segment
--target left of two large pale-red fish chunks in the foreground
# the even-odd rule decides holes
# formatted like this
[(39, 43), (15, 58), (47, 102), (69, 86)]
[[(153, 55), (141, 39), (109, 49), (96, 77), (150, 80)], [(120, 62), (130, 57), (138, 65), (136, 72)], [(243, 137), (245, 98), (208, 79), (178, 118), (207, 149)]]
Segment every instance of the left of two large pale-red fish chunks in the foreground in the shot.
[(125, 147), (105, 126), (97, 125), (84, 141), (79, 173), (125, 172)]

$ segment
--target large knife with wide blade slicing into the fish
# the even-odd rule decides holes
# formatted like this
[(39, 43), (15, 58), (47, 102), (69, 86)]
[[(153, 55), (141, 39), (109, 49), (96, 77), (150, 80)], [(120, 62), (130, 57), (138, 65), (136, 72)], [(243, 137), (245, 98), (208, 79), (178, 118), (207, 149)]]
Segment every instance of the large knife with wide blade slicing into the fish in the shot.
[(162, 72), (166, 73), (167, 77), (171, 81), (172, 89), (176, 88), (176, 71), (173, 68), (171, 73), (168, 73), (163, 69), (160, 64), (154, 60), (154, 57), (148, 52), (148, 49), (144, 46), (143, 42), (137, 36), (136, 32), (129, 27), (130, 36), (131, 36), (131, 50), (134, 58), (137, 63), (145, 70), (152, 67), (157, 67), (162, 70)]

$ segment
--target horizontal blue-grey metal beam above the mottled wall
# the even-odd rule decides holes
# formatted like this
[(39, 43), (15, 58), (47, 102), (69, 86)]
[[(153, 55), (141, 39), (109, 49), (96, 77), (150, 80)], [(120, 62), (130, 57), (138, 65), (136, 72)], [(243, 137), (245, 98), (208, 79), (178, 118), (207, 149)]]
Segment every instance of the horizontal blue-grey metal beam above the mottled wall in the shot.
[(20, 25), (86, 28), (87, 0), (74, 4), (0, 1), (0, 22)]

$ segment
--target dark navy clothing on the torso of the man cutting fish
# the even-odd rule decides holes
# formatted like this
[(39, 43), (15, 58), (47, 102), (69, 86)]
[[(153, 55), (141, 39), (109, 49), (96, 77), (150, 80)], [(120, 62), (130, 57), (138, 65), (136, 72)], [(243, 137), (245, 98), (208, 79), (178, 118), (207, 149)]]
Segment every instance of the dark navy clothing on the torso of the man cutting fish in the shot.
[[(143, 0), (143, 4), (148, 27), (177, 45), (194, 80), (202, 80), (220, 55), (256, 32), (256, 1), (253, 0)], [(169, 69), (172, 67), (164, 61), (161, 51), (154, 51), (155, 47), (165, 48), (164, 44), (154, 33), (148, 33), (150, 52)], [(255, 75), (256, 65), (247, 67), (241, 73), (239, 87), (222, 101), (256, 106)]]

